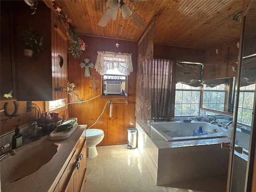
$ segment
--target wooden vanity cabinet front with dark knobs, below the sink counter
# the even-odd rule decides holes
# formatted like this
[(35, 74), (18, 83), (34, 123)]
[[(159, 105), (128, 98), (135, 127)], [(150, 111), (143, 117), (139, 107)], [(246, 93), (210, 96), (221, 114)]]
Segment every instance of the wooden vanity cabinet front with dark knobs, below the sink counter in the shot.
[(76, 149), (54, 192), (82, 192), (86, 180), (86, 138), (85, 131), (76, 144)]

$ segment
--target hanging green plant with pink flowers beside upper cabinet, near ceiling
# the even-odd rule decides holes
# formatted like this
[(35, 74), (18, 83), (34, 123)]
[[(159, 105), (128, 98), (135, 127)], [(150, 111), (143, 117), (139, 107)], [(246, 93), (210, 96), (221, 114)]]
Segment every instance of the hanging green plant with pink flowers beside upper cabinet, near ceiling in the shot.
[(69, 29), (68, 30), (69, 36), (72, 39), (71, 41), (71, 46), (68, 49), (72, 56), (74, 56), (74, 58), (80, 58), (80, 55), (82, 54), (82, 51), (85, 50), (86, 44), (83, 40), (81, 40), (78, 35), (76, 34), (76, 32), (74, 32), (74, 30)]

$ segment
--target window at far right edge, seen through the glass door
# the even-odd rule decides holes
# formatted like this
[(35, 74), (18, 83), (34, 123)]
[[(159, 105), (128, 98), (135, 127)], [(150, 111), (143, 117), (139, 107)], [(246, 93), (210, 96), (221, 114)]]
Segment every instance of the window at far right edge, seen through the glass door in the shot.
[(255, 84), (240, 87), (237, 122), (251, 126)]

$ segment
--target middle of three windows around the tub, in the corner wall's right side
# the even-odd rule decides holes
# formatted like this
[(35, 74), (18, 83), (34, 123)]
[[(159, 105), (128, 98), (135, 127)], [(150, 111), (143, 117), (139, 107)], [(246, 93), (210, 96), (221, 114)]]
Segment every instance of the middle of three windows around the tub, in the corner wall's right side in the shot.
[(209, 87), (204, 84), (202, 108), (224, 111), (226, 84)]

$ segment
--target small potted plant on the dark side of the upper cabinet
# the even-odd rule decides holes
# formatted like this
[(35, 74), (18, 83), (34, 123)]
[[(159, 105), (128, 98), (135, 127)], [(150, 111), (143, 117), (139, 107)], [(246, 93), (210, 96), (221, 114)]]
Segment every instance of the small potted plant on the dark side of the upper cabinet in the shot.
[(41, 50), (44, 50), (44, 38), (42, 36), (40, 37), (39, 33), (34, 33), (31, 27), (26, 30), (24, 43), (29, 47), (28, 49), (24, 49), (25, 56), (32, 57), (34, 52), (40, 53)]

